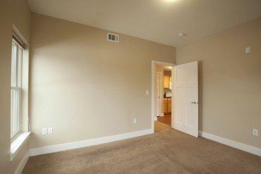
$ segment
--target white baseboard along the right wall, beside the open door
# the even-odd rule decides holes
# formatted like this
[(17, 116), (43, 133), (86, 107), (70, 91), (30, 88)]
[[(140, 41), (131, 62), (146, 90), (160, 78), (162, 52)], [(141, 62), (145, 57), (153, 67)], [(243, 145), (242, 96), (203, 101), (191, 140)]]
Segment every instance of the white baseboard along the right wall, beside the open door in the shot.
[(199, 131), (199, 136), (205, 137), (207, 139), (211, 139), (211, 140), (213, 140), (215, 142), (219, 142), (221, 144), (226, 144), (230, 147), (234, 147), (234, 148), (240, 149), (242, 151), (247, 151), (250, 154), (255, 154), (257, 156), (261, 156), (261, 149), (259, 149), (257, 147), (251, 147), (248, 144), (243, 144), (241, 142), (235, 142), (231, 139), (226, 139), (224, 137), (219, 137), (217, 135), (212, 135), (212, 134), (202, 132), (202, 131)]

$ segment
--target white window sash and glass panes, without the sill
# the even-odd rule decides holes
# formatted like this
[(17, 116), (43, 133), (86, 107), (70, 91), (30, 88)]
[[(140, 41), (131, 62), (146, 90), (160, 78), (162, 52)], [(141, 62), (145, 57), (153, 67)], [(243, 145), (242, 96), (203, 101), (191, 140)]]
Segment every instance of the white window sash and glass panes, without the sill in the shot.
[(11, 139), (20, 133), (23, 47), (13, 39), (11, 60)]

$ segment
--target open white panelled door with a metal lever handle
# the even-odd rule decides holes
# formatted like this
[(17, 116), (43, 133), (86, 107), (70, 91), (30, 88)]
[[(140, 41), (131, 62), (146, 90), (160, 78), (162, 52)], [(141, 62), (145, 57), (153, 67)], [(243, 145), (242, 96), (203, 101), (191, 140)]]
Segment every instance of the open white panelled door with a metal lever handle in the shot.
[(198, 61), (172, 68), (172, 128), (198, 137)]

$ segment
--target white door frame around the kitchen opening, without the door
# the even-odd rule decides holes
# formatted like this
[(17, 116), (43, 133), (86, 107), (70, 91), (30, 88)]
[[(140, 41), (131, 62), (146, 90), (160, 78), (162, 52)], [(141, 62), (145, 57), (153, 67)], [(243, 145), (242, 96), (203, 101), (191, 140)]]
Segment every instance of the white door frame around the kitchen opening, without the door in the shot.
[[(160, 66), (176, 66), (176, 63), (169, 63), (169, 62), (164, 62), (164, 61), (153, 61), (152, 60), (152, 84), (151, 84), (151, 89), (152, 89), (152, 93), (151, 93), (151, 97), (152, 97), (152, 103), (151, 103), (151, 118), (152, 118), (152, 132), (154, 132), (154, 120), (157, 119), (157, 117), (155, 117), (156, 115), (156, 100), (155, 100), (155, 95), (156, 95), (156, 87), (155, 87), (155, 75), (156, 75), (156, 64), (160, 65)], [(171, 111), (173, 112), (173, 111)], [(172, 122), (172, 120), (171, 120)]]

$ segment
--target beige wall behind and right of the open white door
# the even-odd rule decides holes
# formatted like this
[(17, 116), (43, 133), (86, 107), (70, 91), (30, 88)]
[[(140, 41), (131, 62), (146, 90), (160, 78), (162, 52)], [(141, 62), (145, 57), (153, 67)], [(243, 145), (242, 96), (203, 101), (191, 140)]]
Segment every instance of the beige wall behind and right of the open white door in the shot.
[(261, 148), (261, 18), (176, 51), (178, 64), (200, 61), (200, 130)]

